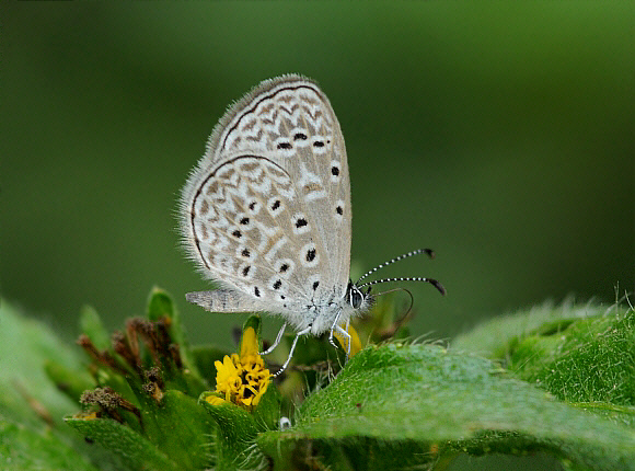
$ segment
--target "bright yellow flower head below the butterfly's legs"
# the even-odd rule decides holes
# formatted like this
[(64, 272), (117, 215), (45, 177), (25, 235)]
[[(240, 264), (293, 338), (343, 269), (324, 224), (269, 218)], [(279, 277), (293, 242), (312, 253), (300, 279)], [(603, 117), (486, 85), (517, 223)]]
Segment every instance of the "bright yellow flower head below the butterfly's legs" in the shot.
[[(258, 340), (253, 328), (243, 332), (240, 356), (226, 355), (215, 361), (216, 392), (224, 400), (245, 407), (258, 404), (269, 386), (269, 370), (258, 354)], [(218, 402), (217, 402), (218, 403)]]

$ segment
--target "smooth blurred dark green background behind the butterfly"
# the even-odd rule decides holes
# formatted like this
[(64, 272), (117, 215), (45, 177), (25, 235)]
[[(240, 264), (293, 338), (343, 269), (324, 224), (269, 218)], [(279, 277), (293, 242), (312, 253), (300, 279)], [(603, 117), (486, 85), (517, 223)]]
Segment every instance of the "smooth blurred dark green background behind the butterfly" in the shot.
[[(178, 248), (176, 200), (226, 107), (285, 72), (339, 117), (356, 271), (411, 286), (448, 338), (545, 299), (635, 287), (634, 2), (14, 3), (2, 9), (1, 288), (70, 338), (153, 285), (193, 343), (240, 317)], [(277, 321), (269, 321), (269, 332)]]

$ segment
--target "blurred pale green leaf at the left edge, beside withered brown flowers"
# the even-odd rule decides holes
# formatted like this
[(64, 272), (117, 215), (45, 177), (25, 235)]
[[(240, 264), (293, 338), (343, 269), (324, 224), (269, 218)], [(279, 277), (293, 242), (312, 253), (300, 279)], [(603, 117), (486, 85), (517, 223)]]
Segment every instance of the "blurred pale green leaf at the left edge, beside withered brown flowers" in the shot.
[[(86, 444), (62, 422), (64, 415), (77, 411), (77, 402), (59, 391), (45, 371), (45, 365), (64, 369), (61, 377), (82, 371), (79, 348), (68, 347), (51, 329), (27, 319), (4, 299), (0, 299), (0, 468), (95, 469)], [(80, 378), (79, 383), (86, 379)], [(66, 384), (72, 389), (79, 383)], [(90, 459), (101, 459), (101, 464), (114, 461), (94, 447), (90, 451)]]

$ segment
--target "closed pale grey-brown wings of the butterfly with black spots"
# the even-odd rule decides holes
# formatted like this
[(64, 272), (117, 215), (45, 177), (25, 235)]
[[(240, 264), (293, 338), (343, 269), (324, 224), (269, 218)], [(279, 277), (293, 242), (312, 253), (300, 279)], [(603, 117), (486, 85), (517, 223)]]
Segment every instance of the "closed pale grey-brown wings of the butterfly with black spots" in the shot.
[(268, 80), (232, 106), (182, 195), (190, 256), (235, 290), (223, 291), (213, 306), (224, 309), (213, 310), (241, 305), (297, 324), (308, 306), (342, 299), (350, 260), (348, 179), (339, 124), (314, 82)]

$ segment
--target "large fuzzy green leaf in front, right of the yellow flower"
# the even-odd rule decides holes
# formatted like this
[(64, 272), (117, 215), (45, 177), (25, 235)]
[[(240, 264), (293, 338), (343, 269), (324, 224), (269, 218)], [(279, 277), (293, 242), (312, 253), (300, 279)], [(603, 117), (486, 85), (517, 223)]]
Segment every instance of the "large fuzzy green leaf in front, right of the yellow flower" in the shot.
[(633, 430), (511, 379), (486, 359), (432, 345), (362, 351), (307, 398), (290, 430), (263, 434), (258, 444), (276, 459), (307, 440), (340, 447), (360, 438), (448, 452), (555, 450), (584, 466), (635, 469)]

